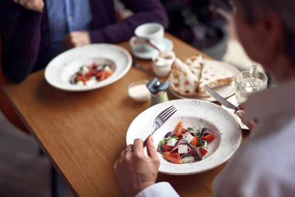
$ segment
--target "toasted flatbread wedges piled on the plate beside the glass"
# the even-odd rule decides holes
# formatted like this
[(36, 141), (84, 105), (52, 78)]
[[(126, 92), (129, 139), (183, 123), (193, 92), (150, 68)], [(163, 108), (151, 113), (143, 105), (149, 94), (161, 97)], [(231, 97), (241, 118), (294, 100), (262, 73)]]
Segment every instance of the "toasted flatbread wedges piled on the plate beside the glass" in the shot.
[(176, 59), (168, 77), (170, 86), (178, 95), (185, 97), (210, 97), (210, 88), (231, 85), (234, 74), (217, 61), (204, 60), (201, 55), (192, 56), (184, 63)]

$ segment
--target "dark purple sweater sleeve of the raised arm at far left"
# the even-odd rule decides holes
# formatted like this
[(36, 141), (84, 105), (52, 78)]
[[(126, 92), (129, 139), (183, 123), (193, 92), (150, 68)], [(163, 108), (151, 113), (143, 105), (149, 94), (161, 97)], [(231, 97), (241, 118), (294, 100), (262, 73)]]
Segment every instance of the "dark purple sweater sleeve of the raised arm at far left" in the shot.
[(23, 81), (38, 57), (42, 13), (10, 4), (0, 9), (1, 65), (3, 74)]

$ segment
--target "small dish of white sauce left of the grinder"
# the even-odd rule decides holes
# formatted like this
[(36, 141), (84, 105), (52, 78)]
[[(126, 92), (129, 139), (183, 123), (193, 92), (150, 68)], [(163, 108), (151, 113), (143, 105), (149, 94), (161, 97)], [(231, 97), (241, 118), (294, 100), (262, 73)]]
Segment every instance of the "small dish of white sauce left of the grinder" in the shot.
[(148, 80), (137, 81), (128, 86), (128, 95), (136, 102), (146, 102), (150, 99), (147, 88)]

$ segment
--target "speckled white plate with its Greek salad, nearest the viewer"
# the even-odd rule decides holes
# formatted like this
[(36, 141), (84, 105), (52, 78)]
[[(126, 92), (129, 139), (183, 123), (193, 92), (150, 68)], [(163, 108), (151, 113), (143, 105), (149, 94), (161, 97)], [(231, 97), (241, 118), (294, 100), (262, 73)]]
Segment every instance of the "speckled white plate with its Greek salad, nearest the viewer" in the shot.
[(153, 135), (161, 161), (159, 172), (196, 174), (223, 164), (233, 156), (242, 139), (236, 118), (214, 103), (196, 99), (170, 100), (148, 108), (131, 123), (127, 144), (133, 144), (136, 138), (145, 140), (154, 118), (171, 105), (177, 112)]

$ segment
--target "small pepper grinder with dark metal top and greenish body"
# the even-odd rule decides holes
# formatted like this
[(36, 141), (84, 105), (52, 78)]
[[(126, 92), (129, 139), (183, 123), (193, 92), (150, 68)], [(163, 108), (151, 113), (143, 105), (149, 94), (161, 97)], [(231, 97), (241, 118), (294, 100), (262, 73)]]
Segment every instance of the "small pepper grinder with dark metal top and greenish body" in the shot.
[(169, 100), (167, 95), (168, 87), (169, 82), (167, 80), (165, 80), (163, 83), (160, 83), (157, 78), (153, 78), (148, 82), (147, 88), (151, 93), (150, 106)]

